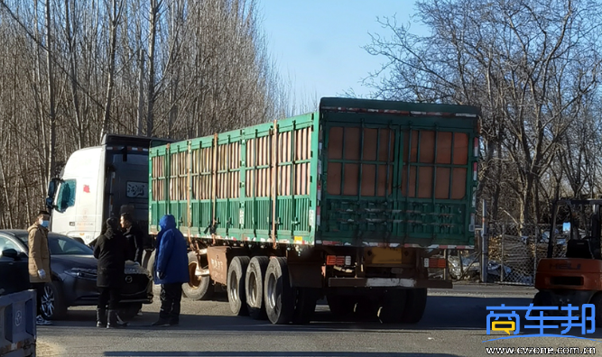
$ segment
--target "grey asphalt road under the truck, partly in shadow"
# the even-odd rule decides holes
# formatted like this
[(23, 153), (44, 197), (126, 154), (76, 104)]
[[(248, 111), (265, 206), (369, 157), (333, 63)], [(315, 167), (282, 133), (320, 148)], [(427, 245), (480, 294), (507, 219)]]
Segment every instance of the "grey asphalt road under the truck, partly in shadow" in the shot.
[(69, 309), (66, 321), (39, 326), (37, 355), (481, 357), (487, 355), (486, 347), (596, 347), (602, 353), (598, 332), (588, 335), (597, 341), (522, 337), (484, 343), (505, 335), (486, 334), (486, 307), (527, 306), (534, 292), (533, 288), (475, 285), (430, 290), (427, 311), (417, 325), (335, 321), (326, 305), (319, 305), (310, 325), (271, 325), (232, 316), (225, 301), (183, 299), (179, 326), (150, 326), (158, 317), (155, 301), (144, 306), (144, 315), (135, 317), (127, 329), (107, 330), (94, 326), (93, 308), (79, 307)]

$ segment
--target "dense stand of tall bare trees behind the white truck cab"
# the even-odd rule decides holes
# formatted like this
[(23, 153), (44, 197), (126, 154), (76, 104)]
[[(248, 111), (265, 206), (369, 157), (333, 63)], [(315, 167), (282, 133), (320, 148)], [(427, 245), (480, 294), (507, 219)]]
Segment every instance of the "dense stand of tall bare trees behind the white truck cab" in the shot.
[(104, 133), (185, 139), (284, 116), (256, 8), (0, 0), (0, 225), (28, 224), (48, 178)]

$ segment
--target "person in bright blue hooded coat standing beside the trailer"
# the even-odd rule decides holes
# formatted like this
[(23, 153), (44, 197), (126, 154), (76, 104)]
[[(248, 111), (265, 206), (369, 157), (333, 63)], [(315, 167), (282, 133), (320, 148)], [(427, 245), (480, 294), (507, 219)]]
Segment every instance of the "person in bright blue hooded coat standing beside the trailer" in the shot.
[(180, 323), (181, 285), (189, 282), (188, 243), (176, 228), (173, 215), (163, 215), (159, 221), (153, 279), (161, 284), (161, 311), (153, 326), (171, 326)]

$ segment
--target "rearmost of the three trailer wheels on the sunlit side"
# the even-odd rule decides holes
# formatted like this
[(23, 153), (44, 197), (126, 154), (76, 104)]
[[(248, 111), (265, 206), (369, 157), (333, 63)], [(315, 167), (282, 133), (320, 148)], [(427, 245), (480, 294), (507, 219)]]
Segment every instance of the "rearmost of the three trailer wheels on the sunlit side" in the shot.
[(272, 324), (283, 325), (291, 322), (295, 309), (292, 293), (286, 258), (272, 258), (264, 279), (265, 313)]

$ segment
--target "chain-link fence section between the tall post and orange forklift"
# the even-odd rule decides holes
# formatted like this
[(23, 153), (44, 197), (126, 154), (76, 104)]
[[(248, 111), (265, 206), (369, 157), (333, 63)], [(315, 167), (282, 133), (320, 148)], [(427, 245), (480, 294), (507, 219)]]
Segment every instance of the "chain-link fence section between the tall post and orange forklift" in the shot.
[[(537, 264), (548, 254), (549, 224), (490, 222), (487, 225), (487, 281), (533, 285)], [(555, 231), (553, 257), (563, 257), (567, 244)]]

